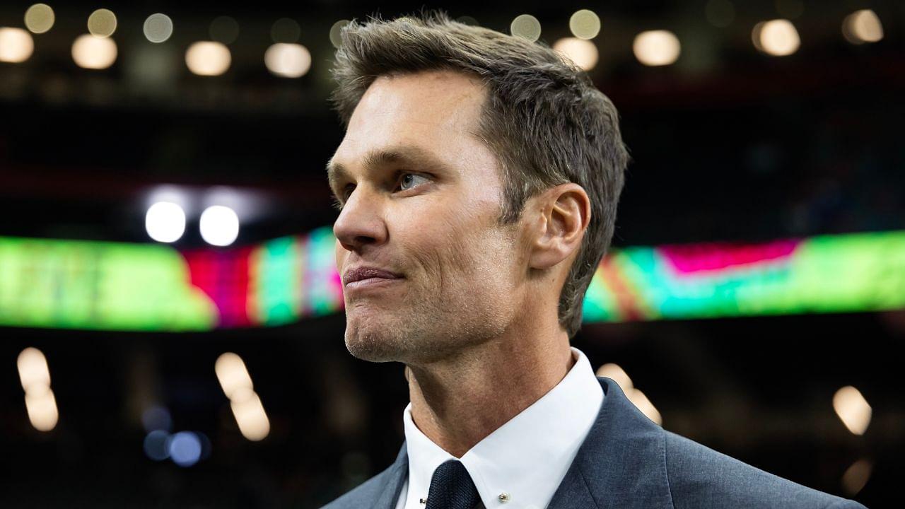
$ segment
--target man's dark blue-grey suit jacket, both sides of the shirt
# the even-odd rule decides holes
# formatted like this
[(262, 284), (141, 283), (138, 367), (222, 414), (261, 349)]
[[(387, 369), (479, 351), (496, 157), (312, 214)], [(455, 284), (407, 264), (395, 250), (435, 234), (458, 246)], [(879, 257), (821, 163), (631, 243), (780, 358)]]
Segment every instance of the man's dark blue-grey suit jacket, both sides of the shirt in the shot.
[[(857, 509), (657, 426), (612, 380), (604, 404), (548, 509)], [(405, 444), (393, 465), (324, 509), (394, 509), (408, 475)], [(512, 507), (510, 509), (519, 509)]]

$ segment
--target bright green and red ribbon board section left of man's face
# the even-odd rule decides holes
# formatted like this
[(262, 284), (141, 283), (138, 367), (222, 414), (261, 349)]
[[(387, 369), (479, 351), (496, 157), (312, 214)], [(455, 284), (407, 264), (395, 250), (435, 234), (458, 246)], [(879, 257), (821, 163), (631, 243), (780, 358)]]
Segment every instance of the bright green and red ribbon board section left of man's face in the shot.
[(330, 228), (237, 249), (0, 237), (0, 325), (208, 331), (342, 309)]

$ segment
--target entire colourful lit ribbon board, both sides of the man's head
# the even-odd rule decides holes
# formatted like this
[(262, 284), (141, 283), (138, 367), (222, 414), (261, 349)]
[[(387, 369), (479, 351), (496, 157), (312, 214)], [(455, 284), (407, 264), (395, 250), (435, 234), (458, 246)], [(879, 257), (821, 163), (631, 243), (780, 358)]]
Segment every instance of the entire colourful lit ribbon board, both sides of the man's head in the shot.
[[(338, 312), (328, 227), (235, 249), (0, 237), (0, 325), (207, 331)], [(585, 322), (905, 308), (905, 232), (613, 250)]]

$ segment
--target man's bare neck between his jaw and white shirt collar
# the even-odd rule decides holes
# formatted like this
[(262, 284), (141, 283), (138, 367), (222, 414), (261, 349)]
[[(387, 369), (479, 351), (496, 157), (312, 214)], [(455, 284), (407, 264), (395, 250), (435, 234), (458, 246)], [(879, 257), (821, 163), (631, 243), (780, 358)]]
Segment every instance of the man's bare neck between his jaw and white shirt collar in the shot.
[(485, 341), (427, 365), (408, 365), (415, 425), (462, 457), (556, 387), (575, 364), (566, 331), (538, 327)]

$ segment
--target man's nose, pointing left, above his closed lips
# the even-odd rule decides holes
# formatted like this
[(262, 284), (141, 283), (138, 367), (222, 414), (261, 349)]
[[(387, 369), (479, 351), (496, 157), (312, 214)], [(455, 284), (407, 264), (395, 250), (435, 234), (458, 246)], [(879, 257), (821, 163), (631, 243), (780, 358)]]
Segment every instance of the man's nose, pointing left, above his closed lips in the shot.
[(359, 254), (367, 245), (385, 242), (386, 222), (379, 198), (369, 195), (364, 187), (357, 187), (333, 223), (333, 235), (344, 249)]

